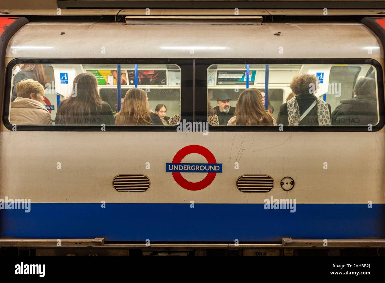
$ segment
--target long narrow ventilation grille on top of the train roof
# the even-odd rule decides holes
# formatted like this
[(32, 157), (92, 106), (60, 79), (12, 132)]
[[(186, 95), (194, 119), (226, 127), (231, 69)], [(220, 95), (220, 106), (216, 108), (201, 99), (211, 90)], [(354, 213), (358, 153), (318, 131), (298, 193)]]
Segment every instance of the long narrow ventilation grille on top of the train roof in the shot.
[(126, 25), (262, 25), (261, 16), (126, 16)]

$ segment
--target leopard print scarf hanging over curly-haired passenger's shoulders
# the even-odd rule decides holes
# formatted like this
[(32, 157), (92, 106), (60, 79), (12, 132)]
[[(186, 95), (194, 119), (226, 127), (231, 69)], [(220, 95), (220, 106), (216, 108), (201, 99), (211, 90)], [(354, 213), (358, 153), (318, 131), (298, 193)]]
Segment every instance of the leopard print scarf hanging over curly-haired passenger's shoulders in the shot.
[[(331, 126), (330, 121), (330, 112), (328, 104), (313, 95), (317, 101), (317, 118), (319, 126)], [(295, 97), (288, 100), (288, 120), (289, 126), (299, 126), (300, 125), (300, 107), (298, 107), (298, 102)]]

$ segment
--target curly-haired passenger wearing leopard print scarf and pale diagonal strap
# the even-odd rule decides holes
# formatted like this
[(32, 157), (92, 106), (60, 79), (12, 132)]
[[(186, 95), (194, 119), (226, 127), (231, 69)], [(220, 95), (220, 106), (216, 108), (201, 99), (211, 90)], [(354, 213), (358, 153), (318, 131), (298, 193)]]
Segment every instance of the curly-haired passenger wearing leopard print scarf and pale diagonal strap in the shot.
[(331, 126), (330, 105), (315, 96), (317, 76), (301, 74), (290, 84), (295, 97), (280, 107), (278, 124), (298, 126)]

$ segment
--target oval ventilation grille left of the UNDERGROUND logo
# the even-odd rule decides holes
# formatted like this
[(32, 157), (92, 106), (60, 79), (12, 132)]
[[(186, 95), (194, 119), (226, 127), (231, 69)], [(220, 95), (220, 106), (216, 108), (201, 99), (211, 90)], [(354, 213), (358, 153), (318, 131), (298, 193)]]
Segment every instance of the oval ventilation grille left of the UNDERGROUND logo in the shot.
[(118, 192), (140, 193), (150, 188), (150, 179), (144, 175), (118, 175), (113, 185)]

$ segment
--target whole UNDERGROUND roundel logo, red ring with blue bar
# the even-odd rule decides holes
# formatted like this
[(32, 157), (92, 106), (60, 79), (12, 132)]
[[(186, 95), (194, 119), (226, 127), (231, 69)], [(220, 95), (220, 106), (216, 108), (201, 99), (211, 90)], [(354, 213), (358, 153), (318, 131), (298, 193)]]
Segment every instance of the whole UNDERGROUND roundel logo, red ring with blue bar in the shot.
[[(181, 163), (182, 159), (191, 153), (201, 154), (208, 163)], [(214, 181), (216, 173), (222, 173), (222, 164), (216, 162), (214, 155), (206, 147), (191, 145), (179, 150), (172, 163), (166, 163), (166, 172), (171, 172), (176, 183), (182, 188), (199, 191)], [(182, 172), (207, 173), (207, 176), (202, 181), (194, 183), (184, 179)]]

